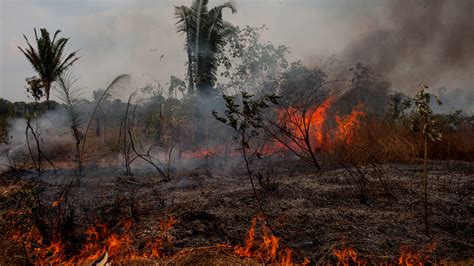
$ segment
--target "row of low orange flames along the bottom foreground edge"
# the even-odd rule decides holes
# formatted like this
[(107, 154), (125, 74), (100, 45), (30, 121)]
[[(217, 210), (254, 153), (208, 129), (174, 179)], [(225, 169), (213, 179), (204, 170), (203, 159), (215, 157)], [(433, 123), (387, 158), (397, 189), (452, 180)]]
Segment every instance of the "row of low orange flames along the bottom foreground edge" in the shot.
[[(12, 212), (12, 215), (16, 213)], [(20, 213), (21, 214), (21, 213)], [(150, 263), (162, 261), (162, 259), (173, 262), (174, 256), (171, 253), (172, 237), (170, 229), (176, 223), (174, 217), (167, 217), (160, 221), (159, 232), (156, 237), (147, 241), (145, 245), (137, 245), (132, 234), (133, 223), (130, 220), (120, 222), (115, 229), (110, 230), (103, 224), (97, 224), (85, 231), (84, 243), (77, 248), (77, 243), (54, 241), (49, 245), (42, 244), (38, 238), (38, 231), (31, 230), (27, 235), (14, 233), (12, 241), (20, 241), (24, 244), (30, 259), (39, 265), (75, 264), (84, 265), (94, 262), (110, 263), (130, 263), (145, 262)], [(76, 245), (74, 245), (76, 244)], [(77, 248), (77, 250), (75, 250)], [(211, 247), (212, 248), (212, 247)], [(262, 216), (255, 216), (251, 220), (250, 228), (245, 238), (245, 243), (235, 247), (229, 245), (218, 245), (215, 248), (225, 248), (240, 258), (248, 258), (259, 263), (293, 265), (293, 250), (282, 244), (280, 238), (276, 237), (270, 228), (265, 225)], [(416, 250), (410, 246), (401, 246), (400, 255), (396, 257), (378, 257), (361, 255), (356, 249), (347, 245), (347, 241), (341, 241), (332, 248), (333, 258), (305, 258), (302, 265), (318, 263), (323, 265), (332, 264), (334, 259), (338, 265), (425, 265), (432, 263), (432, 253), (436, 250), (436, 243)]]

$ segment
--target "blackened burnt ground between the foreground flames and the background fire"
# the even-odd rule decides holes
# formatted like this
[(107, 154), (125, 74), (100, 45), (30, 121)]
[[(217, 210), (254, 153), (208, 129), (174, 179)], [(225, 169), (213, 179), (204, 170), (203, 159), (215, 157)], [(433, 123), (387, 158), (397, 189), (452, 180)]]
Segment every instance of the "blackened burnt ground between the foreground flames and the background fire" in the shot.
[[(270, 189), (258, 182), (256, 187), (276, 235), (294, 250), (297, 261), (331, 256), (341, 240), (368, 258), (397, 258), (401, 246), (418, 251), (430, 243), (436, 243), (431, 258), (474, 258), (474, 165), (432, 162), (429, 168), (427, 237), (419, 164), (361, 168), (364, 190), (357, 186), (360, 176), (348, 169), (316, 171), (291, 160), (253, 166), (255, 173), (269, 177)], [(124, 176), (112, 168), (88, 169), (68, 204), (75, 209), (77, 227), (131, 217), (139, 236), (151, 234), (160, 219), (172, 215), (177, 219), (171, 230), (175, 252), (237, 245), (259, 212), (244, 169), (204, 165), (174, 173), (169, 182), (146, 171)], [(41, 176), (24, 172), (21, 178), (37, 183), (42, 200), (52, 203), (70, 176), (71, 171), (61, 170)]]

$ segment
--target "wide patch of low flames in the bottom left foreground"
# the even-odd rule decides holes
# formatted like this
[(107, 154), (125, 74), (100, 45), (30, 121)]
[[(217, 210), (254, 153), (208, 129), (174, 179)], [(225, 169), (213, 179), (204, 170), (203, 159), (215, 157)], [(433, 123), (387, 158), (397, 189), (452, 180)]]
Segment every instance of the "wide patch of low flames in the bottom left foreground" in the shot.
[[(71, 251), (71, 244), (54, 241), (49, 246), (38, 241), (35, 248), (31, 248), (39, 264), (90, 264), (98, 260), (113, 262), (130, 262), (144, 259), (160, 259), (166, 257), (166, 248), (172, 244), (170, 229), (176, 219), (168, 217), (160, 221), (160, 232), (156, 239), (148, 241), (144, 250), (134, 246), (132, 236), (133, 223), (130, 220), (122, 221), (117, 226), (122, 233), (112, 233), (103, 224), (97, 224), (85, 231), (85, 245), (78, 252)], [(74, 254), (73, 254), (74, 253)]]

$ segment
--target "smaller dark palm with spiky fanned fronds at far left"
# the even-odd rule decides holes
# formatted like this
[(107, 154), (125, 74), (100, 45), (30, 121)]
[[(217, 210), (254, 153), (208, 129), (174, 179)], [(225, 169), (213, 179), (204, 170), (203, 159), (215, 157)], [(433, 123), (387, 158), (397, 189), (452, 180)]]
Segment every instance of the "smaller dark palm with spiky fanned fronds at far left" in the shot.
[(39, 38), (36, 29), (34, 30), (37, 48), (35, 49), (31, 46), (25, 35), (23, 35), (23, 37), (25, 38), (28, 47), (22, 49), (18, 46), (18, 48), (26, 56), (28, 61), (30, 61), (33, 69), (38, 73), (39, 78), (43, 83), (46, 104), (49, 109), (49, 92), (51, 90), (51, 85), (59, 78), (64, 70), (70, 67), (79, 58), (76, 57), (77, 51), (70, 53), (65, 58), (63, 57), (64, 48), (69, 39), (60, 38), (59, 40), (56, 40), (56, 37), (61, 32), (60, 30), (57, 30), (54, 33), (52, 40), (50, 39), (49, 32), (46, 29), (40, 29), (41, 36)]

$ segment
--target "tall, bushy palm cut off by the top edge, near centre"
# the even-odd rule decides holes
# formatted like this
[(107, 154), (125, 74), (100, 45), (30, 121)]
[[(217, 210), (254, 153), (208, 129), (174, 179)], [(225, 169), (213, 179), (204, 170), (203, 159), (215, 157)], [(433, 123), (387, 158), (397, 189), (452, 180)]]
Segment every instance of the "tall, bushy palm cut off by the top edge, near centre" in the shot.
[(222, 18), (222, 10), (235, 13), (232, 2), (208, 10), (208, 0), (194, 0), (191, 7), (175, 6), (177, 31), (186, 35), (185, 49), (188, 56), (187, 77), (189, 93), (197, 91), (206, 95), (216, 81), (219, 56), (224, 50), (226, 37), (233, 26)]

